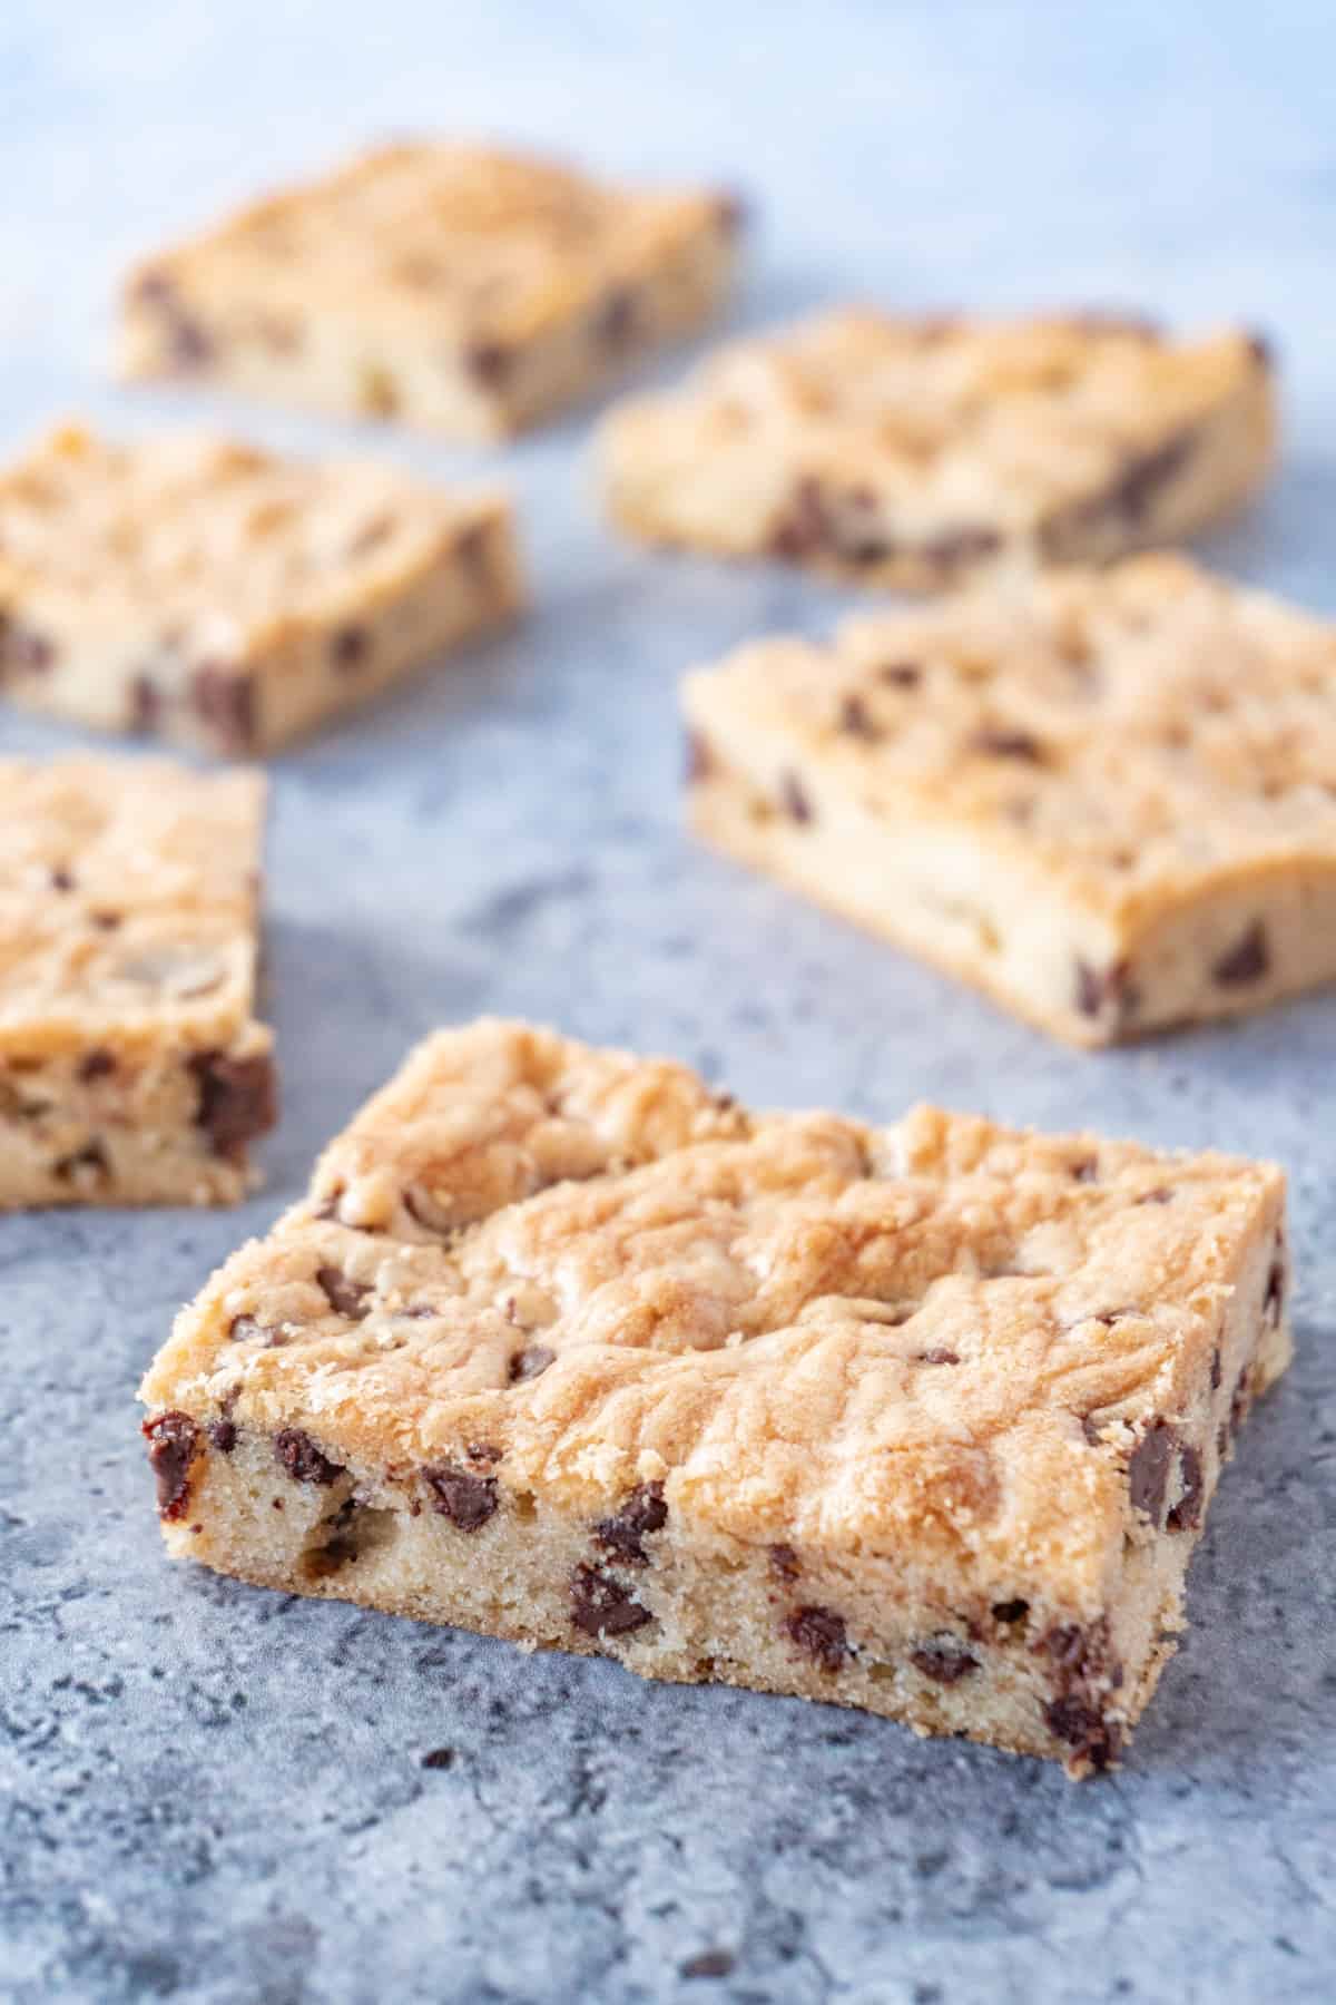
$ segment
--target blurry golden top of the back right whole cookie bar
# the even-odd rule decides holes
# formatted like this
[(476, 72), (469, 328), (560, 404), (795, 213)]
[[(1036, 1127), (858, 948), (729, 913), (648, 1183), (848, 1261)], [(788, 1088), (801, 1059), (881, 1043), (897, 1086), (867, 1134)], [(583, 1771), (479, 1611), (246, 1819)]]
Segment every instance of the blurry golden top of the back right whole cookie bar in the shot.
[[(889, 319), (843, 309), (731, 343), (687, 385), (625, 403), (611, 441), (651, 457), (751, 445), (803, 471), (887, 487), (925, 515), (981, 509), (1030, 529), (1098, 493), (1136, 451), (1210, 415), (1264, 371), (1244, 333), (1180, 343), (1150, 323)], [(621, 429), (619, 429), (621, 427)]]

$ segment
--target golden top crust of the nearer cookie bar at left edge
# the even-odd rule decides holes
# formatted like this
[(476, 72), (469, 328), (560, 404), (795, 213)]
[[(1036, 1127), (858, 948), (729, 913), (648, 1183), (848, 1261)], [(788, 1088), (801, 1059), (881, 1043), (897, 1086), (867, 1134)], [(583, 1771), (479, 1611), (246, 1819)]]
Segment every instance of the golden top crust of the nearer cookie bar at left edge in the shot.
[(0, 1057), (226, 1043), (250, 1017), (264, 778), (0, 762)]

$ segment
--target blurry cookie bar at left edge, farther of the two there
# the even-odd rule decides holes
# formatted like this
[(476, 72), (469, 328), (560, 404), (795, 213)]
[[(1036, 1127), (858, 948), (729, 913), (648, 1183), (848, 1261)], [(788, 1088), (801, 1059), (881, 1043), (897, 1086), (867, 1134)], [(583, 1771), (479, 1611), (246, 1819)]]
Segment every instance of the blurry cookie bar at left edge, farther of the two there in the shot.
[(391, 467), (68, 425), (0, 475), (0, 690), (98, 730), (266, 752), (521, 602), (507, 501)]

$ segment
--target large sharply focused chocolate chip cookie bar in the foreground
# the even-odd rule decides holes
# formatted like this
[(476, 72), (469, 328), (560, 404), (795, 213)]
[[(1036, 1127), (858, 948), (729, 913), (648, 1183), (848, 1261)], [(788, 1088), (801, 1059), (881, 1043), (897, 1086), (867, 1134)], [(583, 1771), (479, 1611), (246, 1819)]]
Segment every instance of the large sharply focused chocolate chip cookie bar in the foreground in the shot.
[(182, 1311), (168, 1550), (651, 1678), (1118, 1756), (1250, 1401), (1278, 1169), (751, 1115), (479, 1023)]

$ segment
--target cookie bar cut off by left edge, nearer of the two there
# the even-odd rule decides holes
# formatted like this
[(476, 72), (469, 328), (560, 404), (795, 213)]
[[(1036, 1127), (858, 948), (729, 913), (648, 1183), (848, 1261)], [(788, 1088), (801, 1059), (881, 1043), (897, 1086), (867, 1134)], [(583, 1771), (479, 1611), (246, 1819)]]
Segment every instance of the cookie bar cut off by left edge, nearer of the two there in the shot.
[(264, 780), (0, 762), (0, 1209), (226, 1205), (258, 1181)]

